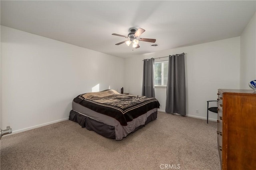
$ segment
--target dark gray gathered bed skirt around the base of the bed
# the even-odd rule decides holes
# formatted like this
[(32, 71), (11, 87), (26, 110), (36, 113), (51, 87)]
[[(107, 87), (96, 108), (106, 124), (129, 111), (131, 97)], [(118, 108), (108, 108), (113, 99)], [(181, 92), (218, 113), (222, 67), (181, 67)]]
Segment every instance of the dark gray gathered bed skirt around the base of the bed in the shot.
[[(155, 120), (156, 118), (157, 118), (157, 111), (155, 111), (154, 113), (151, 113), (146, 118), (144, 125), (139, 125), (138, 127), (134, 128), (134, 130), (132, 132), (129, 132), (128, 134), (133, 133), (136, 130), (138, 130), (139, 128), (144, 127), (145, 125), (147, 125), (149, 122)], [(95, 119), (87, 117), (83, 114), (80, 114), (80, 113), (74, 111), (74, 110), (70, 111), (69, 120), (77, 122), (82, 128), (85, 127), (88, 130), (93, 130), (94, 132), (96, 132), (106, 138), (122, 140), (123, 137), (126, 137), (128, 135), (128, 134), (125, 134), (121, 138), (117, 137), (116, 130), (115, 130), (114, 126), (106, 125), (105, 123), (96, 121)]]

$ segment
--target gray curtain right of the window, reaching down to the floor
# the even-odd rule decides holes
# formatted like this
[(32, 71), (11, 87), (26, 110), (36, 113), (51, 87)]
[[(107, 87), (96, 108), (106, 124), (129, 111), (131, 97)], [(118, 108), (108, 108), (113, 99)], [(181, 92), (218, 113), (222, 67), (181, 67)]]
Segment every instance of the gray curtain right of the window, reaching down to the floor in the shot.
[(184, 53), (169, 56), (165, 111), (186, 115)]

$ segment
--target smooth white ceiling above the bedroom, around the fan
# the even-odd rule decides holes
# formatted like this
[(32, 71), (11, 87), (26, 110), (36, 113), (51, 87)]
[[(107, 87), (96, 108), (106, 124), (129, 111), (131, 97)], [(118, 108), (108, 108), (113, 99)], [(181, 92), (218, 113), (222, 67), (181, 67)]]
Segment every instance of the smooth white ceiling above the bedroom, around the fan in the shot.
[[(118, 57), (240, 36), (256, 1), (3, 1), (1, 25)], [(125, 43), (130, 28), (146, 30), (140, 48)]]

